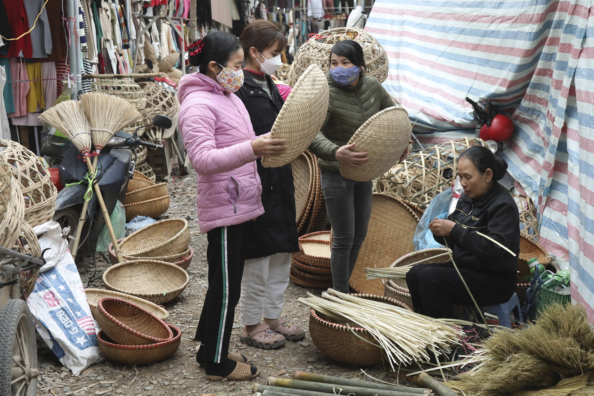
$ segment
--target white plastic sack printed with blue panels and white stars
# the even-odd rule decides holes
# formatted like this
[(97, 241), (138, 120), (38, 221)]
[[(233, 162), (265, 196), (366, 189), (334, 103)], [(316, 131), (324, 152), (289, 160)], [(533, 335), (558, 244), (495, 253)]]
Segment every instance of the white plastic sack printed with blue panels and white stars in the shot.
[(99, 362), (99, 329), (71, 255), (64, 254), (54, 267), (39, 274), (27, 303), (37, 332), (73, 375)]

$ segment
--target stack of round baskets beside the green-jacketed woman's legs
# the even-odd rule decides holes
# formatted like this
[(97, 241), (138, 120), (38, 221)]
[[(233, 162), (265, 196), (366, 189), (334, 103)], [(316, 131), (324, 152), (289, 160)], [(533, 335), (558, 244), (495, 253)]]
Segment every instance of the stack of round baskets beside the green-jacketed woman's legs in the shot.
[(330, 231), (314, 232), (299, 238), (305, 254), (291, 261), (290, 279), (293, 283), (312, 289), (332, 287), (330, 239)]

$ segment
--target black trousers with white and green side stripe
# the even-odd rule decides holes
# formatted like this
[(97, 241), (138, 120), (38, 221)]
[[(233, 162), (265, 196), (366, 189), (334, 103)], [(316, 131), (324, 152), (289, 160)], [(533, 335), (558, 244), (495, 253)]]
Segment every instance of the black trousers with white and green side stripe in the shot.
[(228, 360), (235, 307), (241, 295), (248, 226), (246, 222), (207, 233), (208, 291), (194, 337), (201, 343), (203, 362)]

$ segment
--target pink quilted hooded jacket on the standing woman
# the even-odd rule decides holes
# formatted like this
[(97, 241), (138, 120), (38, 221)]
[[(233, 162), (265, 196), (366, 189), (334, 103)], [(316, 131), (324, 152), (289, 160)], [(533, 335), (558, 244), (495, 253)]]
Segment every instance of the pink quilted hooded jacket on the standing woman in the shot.
[(255, 134), (241, 100), (210, 77), (185, 75), (178, 87), (179, 128), (198, 173), (200, 231), (232, 226), (264, 213), (252, 150)]

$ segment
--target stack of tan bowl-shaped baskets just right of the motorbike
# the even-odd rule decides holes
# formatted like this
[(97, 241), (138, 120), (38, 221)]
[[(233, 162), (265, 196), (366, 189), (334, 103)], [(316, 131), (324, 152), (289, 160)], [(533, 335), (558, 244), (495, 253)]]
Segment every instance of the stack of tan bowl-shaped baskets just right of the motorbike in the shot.
[(137, 170), (128, 182), (124, 199), (126, 221), (136, 216), (159, 217), (169, 208), (167, 183), (155, 184)]

